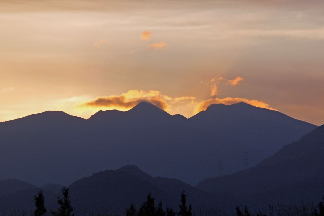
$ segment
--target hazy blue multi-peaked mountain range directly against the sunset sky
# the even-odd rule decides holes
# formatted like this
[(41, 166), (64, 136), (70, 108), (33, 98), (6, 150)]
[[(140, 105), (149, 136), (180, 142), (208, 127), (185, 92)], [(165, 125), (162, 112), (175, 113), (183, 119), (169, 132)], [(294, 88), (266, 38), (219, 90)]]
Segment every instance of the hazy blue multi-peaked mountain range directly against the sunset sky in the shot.
[(189, 119), (147, 102), (87, 120), (47, 111), (0, 123), (0, 179), (69, 185), (93, 172), (137, 164), (152, 176), (195, 185), (242, 170), (242, 152), (254, 166), (316, 127), (242, 102), (213, 104)]

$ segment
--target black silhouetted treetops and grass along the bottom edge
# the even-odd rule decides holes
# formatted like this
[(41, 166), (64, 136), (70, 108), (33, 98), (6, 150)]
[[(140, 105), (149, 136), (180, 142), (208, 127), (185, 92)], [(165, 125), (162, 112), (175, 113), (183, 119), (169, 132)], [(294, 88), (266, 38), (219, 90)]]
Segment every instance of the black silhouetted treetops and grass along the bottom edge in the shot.
[[(207, 209), (204, 207), (199, 207), (193, 209), (191, 204), (187, 205), (185, 191), (182, 191), (180, 195), (179, 209), (175, 210), (166, 206), (163, 208), (162, 201), (155, 205), (155, 198), (149, 193), (146, 197), (146, 201), (137, 208), (136, 205), (130, 204), (126, 209), (114, 209), (107, 210), (105, 208), (95, 209), (95, 211), (88, 210), (74, 210), (69, 196), (69, 188), (64, 187), (62, 189), (63, 198), (59, 198), (57, 203), (59, 205), (57, 210), (47, 210), (44, 205), (43, 191), (40, 190), (37, 195), (34, 196), (35, 210), (25, 211), (25, 210), (14, 210), (9, 215), (50, 215), (50, 216), (73, 216), (73, 215), (127, 215), (127, 216), (137, 216), (137, 215), (151, 215), (151, 216), (191, 216), (191, 215), (237, 215), (237, 216), (252, 216), (252, 215), (313, 215), (313, 216), (324, 216), (324, 196), (318, 205), (301, 203), (299, 206), (291, 206), (278, 204), (277, 206), (269, 205), (267, 210), (249, 210), (247, 206), (237, 206), (236, 209), (224, 211), (220, 209)], [(111, 212), (119, 212), (111, 213)]]

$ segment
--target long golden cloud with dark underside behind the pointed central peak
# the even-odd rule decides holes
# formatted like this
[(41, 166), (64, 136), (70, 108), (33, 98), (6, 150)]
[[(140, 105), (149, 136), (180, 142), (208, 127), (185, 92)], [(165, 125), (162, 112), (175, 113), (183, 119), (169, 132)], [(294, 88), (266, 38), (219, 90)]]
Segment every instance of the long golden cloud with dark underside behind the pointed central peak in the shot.
[(82, 102), (78, 104), (81, 107), (106, 107), (113, 109), (131, 109), (140, 102), (150, 102), (157, 107), (167, 111), (169, 105), (167, 100), (172, 100), (167, 95), (162, 95), (156, 90), (129, 90), (121, 95), (110, 95), (107, 97), (98, 97), (95, 100)]

